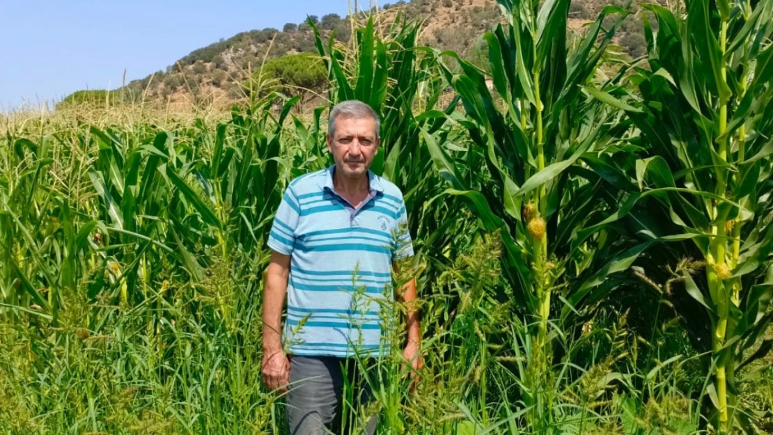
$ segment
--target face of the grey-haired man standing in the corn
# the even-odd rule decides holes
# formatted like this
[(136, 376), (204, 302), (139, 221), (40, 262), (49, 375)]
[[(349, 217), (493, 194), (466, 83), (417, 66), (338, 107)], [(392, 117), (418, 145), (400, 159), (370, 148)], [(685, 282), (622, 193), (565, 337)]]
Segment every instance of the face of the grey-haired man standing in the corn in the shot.
[(328, 149), (341, 175), (346, 178), (364, 175), (379, 151), (376, 120), (371, 117), (338, 117), (332, 137), (328, 136)]

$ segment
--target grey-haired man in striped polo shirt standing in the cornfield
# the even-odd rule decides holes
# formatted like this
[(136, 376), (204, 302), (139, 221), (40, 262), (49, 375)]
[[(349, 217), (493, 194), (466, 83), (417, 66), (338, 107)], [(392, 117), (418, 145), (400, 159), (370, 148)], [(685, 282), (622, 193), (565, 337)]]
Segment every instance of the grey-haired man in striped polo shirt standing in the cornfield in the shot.
[[(339, 430), (347, 376), (341, 368), (351, 367), (354, 355), (383, 351), (378, 299), (392, 284), (394, 260), (413, 255), (407, 230), (399, 233), (407, 222), (400, 189), (369, 171), (379, 131), (378, 116), (367, 104), (344, 101), (333, 107), (327, 144), (335, 165), (293, 180), (274, 217), (262, 371), (270, 389), (283, 391), (289, 384), (292, 435)], [(422, 359), (418, 314), (410, 304), (417, 297), (414, 280), (397, 294), (409, 306), (403, 356), (415, 374)], [(280, 332), (285, 296), (289, 355)], [(369, 391), (362, 396), (367, 399)], [(375, 428), (373, 416), (366, 432)]]

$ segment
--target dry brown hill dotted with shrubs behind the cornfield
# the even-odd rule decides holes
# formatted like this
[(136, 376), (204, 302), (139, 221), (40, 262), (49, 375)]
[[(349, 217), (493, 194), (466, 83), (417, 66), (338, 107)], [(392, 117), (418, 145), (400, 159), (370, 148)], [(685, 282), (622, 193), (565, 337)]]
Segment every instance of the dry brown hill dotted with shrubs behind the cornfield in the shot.
[[(570, 7), (570, 27), (581, 28), (608, 3), (603, 0), (575, 0)], [(473, 63), (483, 59), (480, 36), (502, 20), (499, 5), (494, 0), (401, 0), (369, 12), (379, 15), (379, 22), (384, 24), (392, 22), (397, 14), (407, 19), (419, 19), (424, 22), (421, 43), (454, 50)], [(346, 43), (352, 37), (352, 22), (361, 17), (328, 14), (321, 19), (316, 16), (309, 18), (323, 36), (334, 34), (336, 40)], [(618, 43), (631, 56), (644, 52), (645, 40), (637, 19), (626, 20), (618, 34)], [(281, 29), (240, 32), (229, 39), (221, 39), (192, 51), (165, 70), (131, 81), (117, 94), (162, 104), (187, 106), (206, 102), (228, 106), (245, 97), (243, 83), (250, 72), (272, 59), (299, 53), (316, 53), (314, 33), (306, 22), (288, 22)], [(79, 97), (71, 98), (76, 94)], [(73, 96), (65, 100), (82, 101), (83, 91), (73, 93)], [(95, 100), (101, 104), (105, 100), (104, 95), (100, 94), (100, 99)]]

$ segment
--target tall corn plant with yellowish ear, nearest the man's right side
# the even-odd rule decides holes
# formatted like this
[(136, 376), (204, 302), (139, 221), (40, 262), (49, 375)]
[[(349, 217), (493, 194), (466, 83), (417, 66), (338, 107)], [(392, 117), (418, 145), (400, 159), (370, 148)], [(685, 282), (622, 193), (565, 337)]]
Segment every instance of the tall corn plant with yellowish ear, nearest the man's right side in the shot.
[[(493, 94), (482, 70), (454, 53), (440, 53), (455, 58), (461, 68), (455, 73), (443, 63), (468, 116), (460, 123), (478, 148), (464, 164), (485, 162), (492, 182), (472, 189), (459, 173), (461, 161), (454, 161), (439, 142), (432, 151), (451, 182), (449, 192), (468, 201), (485, 229), (502, 229), (502, 273), (514, 289), (516, 306), (523, 307), (534, 325), (530, 373), (537, 380), (525, 396), (526, 404), (535, 406), (532, 423), (537, 424), (536, 414), (549, 409), (551, 400), (539, 390), (549, 383), (543, 383), (543, 376), (553, 295), (570, 298), (576, 311), (591, 289), (625, 269), (641, 251), (623, 249), (630, 246), (614, 243), (615, 236), (606, 231), (572, 243), (579, 229), (598, 223), (617, 206), (617, 199), (604, 192), (602, 174), (581, 165), (580, 159), (613, 155), (608, 142), (625, 126), (616, 125), (614, 110), (589, 100), (581, 86), (593, 79), (626, 12), (605, 8), (583, 36), (572, 39), (567, 35), (567, 1), (499, 3), (507, 25), (484, 36)], [(611, 14), (617, 19), (603, 29)], [(432, 141), (428, 133), (425, 138)], [(614, 287), (612, 280), (597, 290)], [(539, 420), (549, 424), (550, 417)]]

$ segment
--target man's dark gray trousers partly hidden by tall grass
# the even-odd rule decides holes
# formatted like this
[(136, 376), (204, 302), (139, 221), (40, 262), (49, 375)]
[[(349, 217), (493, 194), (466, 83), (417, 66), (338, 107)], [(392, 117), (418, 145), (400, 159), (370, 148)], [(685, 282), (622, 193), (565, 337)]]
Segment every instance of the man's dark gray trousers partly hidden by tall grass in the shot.
[[(377, 417), (363, 422), (359, 405), (372, 396), (371, 386), (361, 380), (354, 359), (331, 356), (290, 355), (290, 386), (287, 416), (290, 435), (376, 432)], [(373, 371), (375, 373), (375, 371)], [(380, 376), (372, 376), (379, 379)], [(344, 398), (344, 385), (352, 386), (351, 398)], [(353, 407), (353, 409), (352, 409)], [(366, 424), (364, 424), (366, 423)]]

